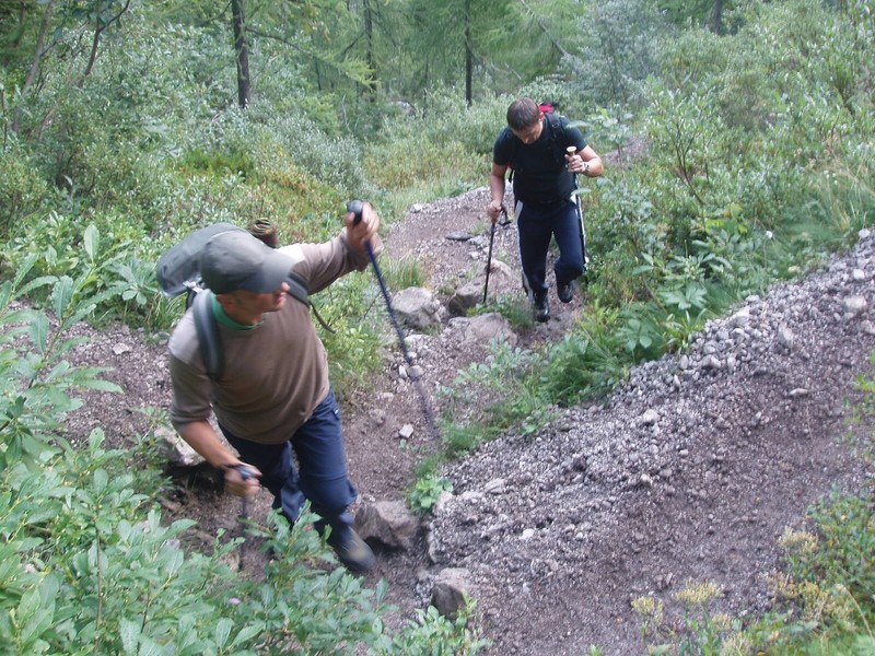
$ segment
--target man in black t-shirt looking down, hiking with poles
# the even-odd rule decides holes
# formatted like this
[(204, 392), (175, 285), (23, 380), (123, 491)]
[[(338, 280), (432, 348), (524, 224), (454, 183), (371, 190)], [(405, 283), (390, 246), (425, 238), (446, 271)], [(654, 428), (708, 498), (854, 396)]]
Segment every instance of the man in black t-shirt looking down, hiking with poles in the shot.
[(539, 321), (550, 317), (546, 280), (550, 239), (556, 237), (559, 246), (553, 272), (562, 303), (571, 302), (574, 281), (585, 270), (582, 226), (572, 197), (575, 176), (598, 177), (605, 171), (581, 131), (550, 110), (526, 97), (511, 103), (508, 126), (492, 149), (492, 200), (487, 208), (492, 221), (498, 221), (504, 202), (504, 174), (512, 168), (523, 285)]

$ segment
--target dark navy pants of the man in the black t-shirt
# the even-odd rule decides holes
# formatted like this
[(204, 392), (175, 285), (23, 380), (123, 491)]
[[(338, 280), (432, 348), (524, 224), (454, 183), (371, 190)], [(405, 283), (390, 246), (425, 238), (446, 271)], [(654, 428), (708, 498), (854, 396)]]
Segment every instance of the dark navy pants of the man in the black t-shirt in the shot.
[(556, 237), (559, 257), (553, 265), (557, 284), (576, 280), (584, 272), (583, 244), (578, 206), (569, 200), (555, 206), (516, 203), (520, 263), (523, 284), (529, 294), (547, 293), (547, 251)]

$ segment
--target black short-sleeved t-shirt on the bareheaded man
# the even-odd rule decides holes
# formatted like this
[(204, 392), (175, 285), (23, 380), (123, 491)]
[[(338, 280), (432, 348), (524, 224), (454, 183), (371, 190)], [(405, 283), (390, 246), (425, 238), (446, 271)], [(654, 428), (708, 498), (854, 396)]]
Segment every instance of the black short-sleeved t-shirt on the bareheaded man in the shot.
[[(558, 129), (553, 121), (559, 121)], [(564, 132), (564, 138), (562, 132)], [(513, 192), (517, 200), (534, 204), (552, 204), (571, 197), (574, 176), (565, 168), (565, 148), (586, 148), (578, 128), (562, 116), (544, 117), (544, 129), (537, 141), (526, 145), (506, 127), (492, 147), (492, 161), (513, 168)]]

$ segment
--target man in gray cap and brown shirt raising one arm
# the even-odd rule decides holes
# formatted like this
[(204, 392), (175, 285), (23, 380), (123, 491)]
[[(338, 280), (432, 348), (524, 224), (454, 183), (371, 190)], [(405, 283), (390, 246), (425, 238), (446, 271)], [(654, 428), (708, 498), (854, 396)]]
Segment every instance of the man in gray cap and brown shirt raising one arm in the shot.
[[(374, 253), (382, 246), (376, 211), (364, 203), (361, 221), (352, 213), (343, 221), (342, 232), (323, 244), (272, 249), (245, 231), (207, 243), (200, 273), (210, 290), (203, 293), (212, 296), (224, 368), (218, 379), (208, 375), (189, 309), (170, 341), (171, 419), (196, 452), (224, 471), (231, 493), (249, 496), (264, 485), (290, 523), (310, 500), (322, 517), (316, 529), (330, 526), (328, 543), (339, 560), (363, 572), (374, 555), (351, 526), (348, 507), (358, 492), (347, 472), (328, 356), (308, 306), (289, 296), (285, 282), (293, 270), (316, 293), (368, 267), (366, 244)], [(240, 457), (212, 429), (211, 412)]]

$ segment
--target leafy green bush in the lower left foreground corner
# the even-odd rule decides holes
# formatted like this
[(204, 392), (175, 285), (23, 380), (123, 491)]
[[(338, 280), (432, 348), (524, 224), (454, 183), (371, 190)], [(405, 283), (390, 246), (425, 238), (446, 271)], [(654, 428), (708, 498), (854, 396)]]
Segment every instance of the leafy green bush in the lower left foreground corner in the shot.
[[(86, 233), (94, 253), (95, 233)], [(25, 263), (33, 265), (32, 256)], [(279, 514), (250, 526), (278, 558), (265, 581), (226, 563), (240, 540), (217, 536), (212, 554), (182, 548), (191, 520), (162, 523), (159, 472), (141, 446), (105, 450), (103, 433), (72, 448), (62, 437), (77, 388), (117, 390), (100, 371), (63, 355), (67, 330), (97, 298), (88, 273), (40, 277), (28, 268), (0, 284), (0, 641), (20, 654), (445, 653), (483, 645), (463, 612), (456, 622), (424, 612), (399, 632), (381, 619), (385, 585), (368, 589), (308, 525)], [(51, 285), (47, 313), (15, 301)], [(117, 293), (107, 290), (104, 294)], [(145, 493), (143, 491), (147, 491)]]

